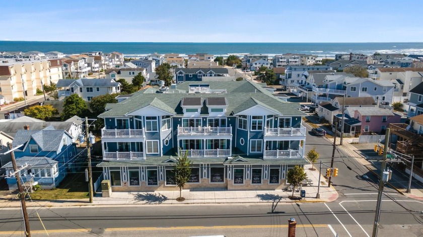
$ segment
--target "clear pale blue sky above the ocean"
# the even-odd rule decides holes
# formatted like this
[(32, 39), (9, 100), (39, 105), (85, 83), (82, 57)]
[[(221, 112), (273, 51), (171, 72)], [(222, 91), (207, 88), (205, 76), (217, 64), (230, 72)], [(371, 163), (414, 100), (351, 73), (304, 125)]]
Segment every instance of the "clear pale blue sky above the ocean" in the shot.
[(0, 40), (423, 42), (423, 1), (7, 1)]

